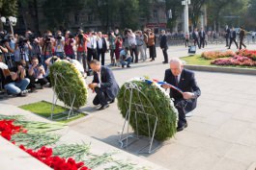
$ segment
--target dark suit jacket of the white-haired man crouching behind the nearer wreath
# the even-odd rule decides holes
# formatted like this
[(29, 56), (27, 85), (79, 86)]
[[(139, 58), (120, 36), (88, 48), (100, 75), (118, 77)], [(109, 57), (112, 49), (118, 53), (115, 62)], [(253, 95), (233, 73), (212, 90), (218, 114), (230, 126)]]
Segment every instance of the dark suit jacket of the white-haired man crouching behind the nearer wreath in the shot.
[[(164, 82), (176, 86), (175, 77), (170, 69), (165, 70)], [(182, 71), (181, 78), (177, 87), (182, 89), (184, 92), (194, 93), (195, 98), (186, 101), (187, 103), (185, 106), (185, 111), (189, 112), (195, 109), (197, 104), (197, 98), (201, 95), (201, 90), (196, 84), (194, 73), (190, 70), (184, 69)], [(170, 97), (174, 98), (174, 100), (185, 100), (183, 98), (183, 95), (173, 88), (170, 89)]]

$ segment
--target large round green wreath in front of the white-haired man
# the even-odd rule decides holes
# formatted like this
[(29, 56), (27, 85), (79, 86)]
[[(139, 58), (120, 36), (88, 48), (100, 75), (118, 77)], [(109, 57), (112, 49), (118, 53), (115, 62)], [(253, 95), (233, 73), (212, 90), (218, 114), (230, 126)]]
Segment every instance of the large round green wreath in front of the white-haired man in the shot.
[[(144, 108), (145, 112), (156, 115), (157, 116), (157, 125), (156, 125), (156, 134), (155, 138), (157, 140), (163, 141), (170, 137), (172, 137), (176, 133), (176, 125), (177, 125), (177, 115), (178, 111), (175, 109), (173, 101), (170, 99), (168, 93), (160, 87), (159, 85), (153, 84), (149, 85), (145, 82), (145, 80), (137, 79), (131, 80), (125, 85), (122, 85), (119, 94), (118, 94), (118, 108), (121, 110), (121, 114), (123, 117), (126, 117), (128, 106), (126, 106), (125, 101), (129, 101), (129, 92), (126, 91), (126, 85), (129, 83), (133, 83), (133, 85), (137, 85), (144, 95), (140, 95), (133, 90), (132, 91), (132, 103), (142, 104), (143, 106), (149, 106), (149, 101), (152, 103), (154, 109), (152, 108)], [(147, 99), (148, 98), (148, 99)], [(131, 107), (129, 124), (134, 131), (136, 131), (136, 121), (135, 121), (135, 106)], [(154, 118), (150, 119), (150, 127), (151, 130), (154, 129), (155, 126)], [(148, 131), (148, 122), (144, 115), (137, 114), (137, 123), (138, 123), (138, 134), (141, 135), (149, 135)], [(152, 132), (151, 132), (152, 133)]]

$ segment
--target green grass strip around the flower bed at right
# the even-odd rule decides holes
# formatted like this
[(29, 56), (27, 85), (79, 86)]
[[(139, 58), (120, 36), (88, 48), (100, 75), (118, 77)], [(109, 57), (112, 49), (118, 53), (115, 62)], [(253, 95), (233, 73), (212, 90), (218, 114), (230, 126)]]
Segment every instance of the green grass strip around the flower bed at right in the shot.
[[(221, 58), (225, 59), (225, 58)], [(193, 55), (181, 58), (181, 60), (185, 61), (186, 64), (189, 65), (206, 65), (206, 66), (219, 66), (219, 67), (235, 67), (235, 68), (249, 68), (256, 69), (256, 66), (240, 66), (240, 65), (214, 65), (211, 64), (214, 60), (206, 60), (201, 58), (201, 55)]]

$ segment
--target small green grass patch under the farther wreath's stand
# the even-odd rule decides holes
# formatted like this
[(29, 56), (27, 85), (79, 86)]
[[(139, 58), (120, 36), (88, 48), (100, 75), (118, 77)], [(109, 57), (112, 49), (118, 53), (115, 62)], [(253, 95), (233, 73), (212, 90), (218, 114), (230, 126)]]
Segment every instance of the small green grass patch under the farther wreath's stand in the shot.
[[(29, 104), (29, 105), (23, 105), (19, 108), (29, 110), (31, 112), (39, 114), (40, 116), (48, 118), (48, 117), (50, 117), (50, 114), (51, 114), (51, 107), (52, 107), (51, 103), (41, 101), (41, 102)], [(54, 109), (55, 114), (56, 113), (61, 113), (61, 112), (64, 112), (64, 111), (69, 111), (69, 109), (65, 109), (64, 107), (60, 107), (60, 106), (55, 106), (55, 109)], [(84, 116), (85, 116), (85, 114), (78, 113), (77, 115), (75, 115), (73, 117), (70, 117), (70, 119), (56, 120), (56, 121), (61, 122), (61, 123), (69, 123), (73, 120), (76, 120), (76, 119), (84, 117)]]

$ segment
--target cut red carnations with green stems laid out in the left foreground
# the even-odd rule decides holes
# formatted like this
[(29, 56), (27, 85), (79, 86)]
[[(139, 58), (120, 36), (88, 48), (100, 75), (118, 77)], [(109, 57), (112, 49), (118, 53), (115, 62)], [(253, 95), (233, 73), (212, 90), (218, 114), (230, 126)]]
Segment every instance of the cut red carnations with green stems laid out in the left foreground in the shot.
[(53, 132), (64, 127), (66, 126), (59, 123), (26, 121), (20, 115), (0, 114), (0, 137), (3, 136), (55, 170), (87, 170), (99, 167), (108, 170), (149, 169), (113, 158), (112, 156), (118, 154), (118, 151), (97, 155), (90, 152), (91, 144), (58, 145), (61, 135)]

